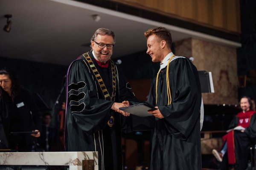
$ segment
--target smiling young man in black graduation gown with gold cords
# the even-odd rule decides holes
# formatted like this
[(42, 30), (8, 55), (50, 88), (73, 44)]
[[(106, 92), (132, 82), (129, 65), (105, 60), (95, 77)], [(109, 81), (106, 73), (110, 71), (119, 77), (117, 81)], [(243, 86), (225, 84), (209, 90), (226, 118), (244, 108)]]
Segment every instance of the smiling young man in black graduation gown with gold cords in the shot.
[[(153, 62), (160, 62), (147, 100), (157, 108), (148, 111), (155, 118), (150, 170), (201, 170), (198, 71), (188, 58), (172, 53), (172, 36), (166, 28), (149, 29), (145, 37), (147, 54)], [(153, 116), (145, 117), (143, 124)], [(134, 130), (138, 126), (131, 117)]]

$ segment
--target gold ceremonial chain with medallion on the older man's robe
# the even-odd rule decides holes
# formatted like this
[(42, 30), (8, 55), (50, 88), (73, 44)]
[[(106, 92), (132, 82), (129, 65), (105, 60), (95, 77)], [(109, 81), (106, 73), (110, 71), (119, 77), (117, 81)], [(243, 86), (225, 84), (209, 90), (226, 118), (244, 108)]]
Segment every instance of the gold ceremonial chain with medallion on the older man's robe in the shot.
[[(85, 53), (85, 54), (83, 54), (83, 57), (85, 59), (84, 61), (87, 62), (88, 65), (90, 65), (90, 69), (93, 71), (93, 74), (97, 79), (97, 82), (99, 84), (99, 87), (101, 88), (101, 91), (103, 93), (103, 96), (104, 96), (105, 100), (114, 101), (115, 96), (116, 96), (116, 69), (115, 69), (114, 62), (110, 59), (111, 72), (112, 72), (112, 88), (113, 88), (112, 95), (110, 96), (109, 93), (108, 93), (108, 89), (106, 88), (106, 86), (103, 82), (103, 79), (100, 76), (99, 71), (95, 67), (92, 59), (89, 56), (89, 54)], [(108, 120), (108, 126), (112, 127), (113, 124), (114, 124), (114, 117), (111, 116), (110, 119)]]

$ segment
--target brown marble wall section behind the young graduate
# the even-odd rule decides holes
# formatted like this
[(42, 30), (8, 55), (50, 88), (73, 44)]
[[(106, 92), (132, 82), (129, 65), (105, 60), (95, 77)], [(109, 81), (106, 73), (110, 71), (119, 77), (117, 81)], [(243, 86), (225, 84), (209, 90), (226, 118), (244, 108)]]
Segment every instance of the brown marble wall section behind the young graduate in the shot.
[(204, 104), (237, 104), (236, 48), (189, 38), (175, 42), (175, 54), (194, 57), (198, 70), (212, 72), (214, 94), (203, 94)]

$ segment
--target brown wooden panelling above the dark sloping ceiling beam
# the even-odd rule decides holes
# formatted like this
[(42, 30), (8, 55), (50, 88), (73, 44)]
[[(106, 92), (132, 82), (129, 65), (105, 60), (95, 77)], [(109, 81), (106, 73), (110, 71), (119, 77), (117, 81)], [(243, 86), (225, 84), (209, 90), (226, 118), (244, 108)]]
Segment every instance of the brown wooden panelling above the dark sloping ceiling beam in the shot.
[(112, 0), (223, 31), (241, 33), (239, 0)]

